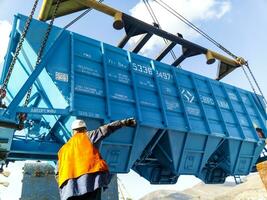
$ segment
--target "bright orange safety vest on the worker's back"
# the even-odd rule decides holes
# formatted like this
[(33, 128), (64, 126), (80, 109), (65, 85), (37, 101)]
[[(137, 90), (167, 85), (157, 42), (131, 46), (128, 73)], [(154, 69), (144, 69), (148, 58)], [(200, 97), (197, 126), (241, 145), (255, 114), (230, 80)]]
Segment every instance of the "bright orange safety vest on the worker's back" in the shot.
[(87, 133), (76, 133), (58, 152), (58, 185), (81, 175), (108, 171), (106, 162)]

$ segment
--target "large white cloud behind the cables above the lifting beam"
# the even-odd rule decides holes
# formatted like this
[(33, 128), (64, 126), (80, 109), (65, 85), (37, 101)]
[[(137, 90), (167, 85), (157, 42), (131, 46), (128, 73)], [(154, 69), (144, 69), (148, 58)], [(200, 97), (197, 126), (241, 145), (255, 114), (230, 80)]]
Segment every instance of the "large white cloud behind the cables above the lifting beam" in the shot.
[[(223, 17), (231, 9), (229, 0), (163, 0), (166, 4), (183, 15), (189, 21), (199, 24), (200, 21), (218, 20)], [(182, 33), (187, 39), (198, 37), (197, 33), (178, 20), (175, 16), (167, 12), (155, 1), (149, 1), (162, 29), (177, 34)], [(141, 19), (147, 23), (152, 23), (153, 20), (149, 15), (143, 1), (140, 1), (134, 8), (130, 10), (133, 17)], [(196, 23), (197, 22), (197, 23)], [(131, 44), (137, 42), (138, 38), (131, 40)], [(147, 54), (150, 50), (157, 46), (163, 45), (163, 40), (157, 37), (152, 37), (143, 48), (143, 53)]]

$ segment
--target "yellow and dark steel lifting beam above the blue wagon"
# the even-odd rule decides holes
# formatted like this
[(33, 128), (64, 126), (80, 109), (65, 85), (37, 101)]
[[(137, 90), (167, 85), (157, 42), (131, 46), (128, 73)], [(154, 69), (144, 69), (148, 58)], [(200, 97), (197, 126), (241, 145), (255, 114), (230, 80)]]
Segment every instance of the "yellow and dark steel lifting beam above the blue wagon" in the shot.
[[(55, 0), (44, 0), (42, 9), (39, 14), (39, 19), (42, 21), (50, 20), (53, 10), (55, 9), (56, 1)], [(144, 44), (152, 37), (152, 35), (157, 35), (164, 39), (167, 39), (171, 42), (167, 48), (165, 48), (164, 54), (166, 55), (168, 52), (166, 50), (172, 50), (172, 48), (179, 44), (183, 48), (187, 49), (187, 53), (183, 53), (172, 65), (177, 66), (183, 60), (188, 57), (196, 56), (200, 54), (204, 54), (207, 59), (207, 64), (213, 64), (215, 60), (218, 60), (219, 63), (219, 71), (217, 75), (217, 80), (220, 80), (227, 74), (231, 73), (234, 69), (240, 67), (245, 64), (244, 59), (231, 59), (224, 55), (221, 55), (215, 51), (206, 49), (202, 46), (199, 46), (193, 42), (170, 34), (164, 30), (161, 30), (153, 25), (147, 24), (143, 21), (140, 21), (132, 16), (129, 16), (115, 8), (112, 8), (108, 5), (100, 3), (96, 0), (66, 0), (60, 3), (60, 6), (57, 11), (56, 17), (68, 15), (74, 12), (78, 12), (87, 8), (93, 8), (102, 13), (110, 15), (114, 18), (113, 27), (117, 30), (124, 28), (126, 32), (126, 36), (119, 43), (119, 47), (125, 46), (127, 41), (132, 37), (140, 34), (145, 34), (143, 41), (139, 43), (135, 48), (133, 48), (134, 52), (139, 52)], [(170, 48), (172, 47), (172, 48)], [(156, 60), (161, 60), (163, 56), (156, 57)]]

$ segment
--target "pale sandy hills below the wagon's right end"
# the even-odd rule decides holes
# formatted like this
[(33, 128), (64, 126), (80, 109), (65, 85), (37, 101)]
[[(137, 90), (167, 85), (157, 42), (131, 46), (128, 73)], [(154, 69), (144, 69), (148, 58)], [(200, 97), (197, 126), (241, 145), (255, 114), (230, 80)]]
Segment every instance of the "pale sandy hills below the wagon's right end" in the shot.
[(206, 185), (200, 183), (183, 192), (159, 190), (140, 200), (267, 200), (267, 192), (257, 173), (246, 177), (244, 183)]

